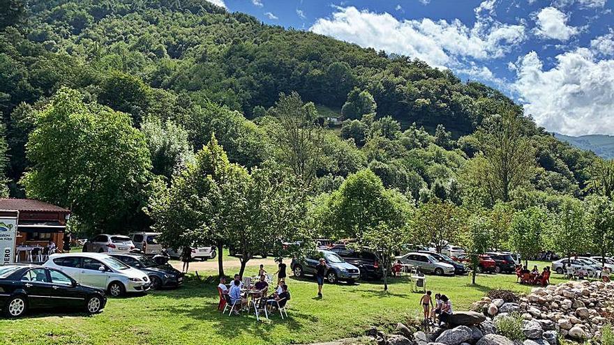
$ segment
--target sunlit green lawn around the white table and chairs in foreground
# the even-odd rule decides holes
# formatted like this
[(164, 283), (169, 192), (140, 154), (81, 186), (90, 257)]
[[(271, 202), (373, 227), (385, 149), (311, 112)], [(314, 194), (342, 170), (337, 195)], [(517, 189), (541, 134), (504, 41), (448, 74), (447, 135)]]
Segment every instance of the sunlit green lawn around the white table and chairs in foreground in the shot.
[[(274, 267), (267, 270), (274, 272)], [(551, 280), (562, 281), (558, 275)], [(516, 284), (515, 275), (479, 275), (477, 285), (470, 282), (467, 276), (428, 276), (427, 288), (446, 293), (456, 310), (490, 289), (530, 291)], [(405, 277), (391, 279), (388, 293), (380, 282), (324, 285), (322, 300), (315, 298), (313, 279), (290, 277), (287, 284), (292, 300), (290, 317), (283, 321), (278, 315), (260, 322), (253, 315), (221, 316), (216, 284), (190, 279), (181, 289), (110, 299), (104, 312), (94, 316), (31, 312), (23, 319), (0, 319), (0, 344), (305, 344), (362, 335), (369, 325), (419, 315), (421, 294), (411, 292)]]

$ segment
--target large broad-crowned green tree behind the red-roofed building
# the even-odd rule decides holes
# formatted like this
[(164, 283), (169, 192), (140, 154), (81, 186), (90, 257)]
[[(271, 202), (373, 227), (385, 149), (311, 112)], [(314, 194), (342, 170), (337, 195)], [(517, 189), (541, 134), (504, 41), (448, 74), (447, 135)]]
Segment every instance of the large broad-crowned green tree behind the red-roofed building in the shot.
[(125, 233), (149, 220), (146, 185), (151, 160), (130, 117), (62, 88), (36, 116), (22, 183), (28, 197), (69, 208), (86, 231)]

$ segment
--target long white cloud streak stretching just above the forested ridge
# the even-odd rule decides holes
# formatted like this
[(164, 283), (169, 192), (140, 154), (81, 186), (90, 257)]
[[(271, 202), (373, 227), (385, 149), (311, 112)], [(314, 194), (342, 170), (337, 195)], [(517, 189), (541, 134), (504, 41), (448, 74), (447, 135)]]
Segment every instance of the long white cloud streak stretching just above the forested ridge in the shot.
[(460, 20), (437, 22), (428, 18), (399, 21), (389, 13), (373, 13), (350, 6), (336, 8), (331, 18), (320, 18), (310, 28), (315, 33), (384, 49), (426, 61), (432, 66), (453, 67), (458, 59), (493, 59), (504, 56), (525, 40), (522, 25), (477, 20), (473, 28)]

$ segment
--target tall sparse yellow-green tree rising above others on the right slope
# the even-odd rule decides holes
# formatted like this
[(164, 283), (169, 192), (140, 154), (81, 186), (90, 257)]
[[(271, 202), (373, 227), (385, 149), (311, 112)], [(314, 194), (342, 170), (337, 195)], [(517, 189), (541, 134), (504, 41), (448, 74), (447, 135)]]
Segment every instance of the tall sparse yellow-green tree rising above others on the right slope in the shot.
[(501, 106), (499, 114), (484, 121), (475, 133), (486, 164), (479, 171), (479, 181), (488, 188), (493, 204), (507, 202), (511, 191), (528, 183), (534, 174), (535, 153), (523, 134), (523, 122), (510, 106)]

